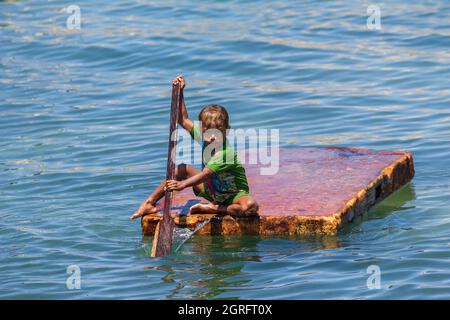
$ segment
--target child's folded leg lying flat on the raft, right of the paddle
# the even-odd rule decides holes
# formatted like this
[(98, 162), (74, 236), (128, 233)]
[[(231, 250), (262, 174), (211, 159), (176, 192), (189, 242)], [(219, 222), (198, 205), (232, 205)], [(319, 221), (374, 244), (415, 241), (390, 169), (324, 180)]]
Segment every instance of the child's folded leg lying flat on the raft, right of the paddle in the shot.
[(252, 195), (247, 194), (234, 199), (230, 205), (218, 205), (218, 204), (196, 204), (191, 207), (191, 213), (213, 213), (232, 216), (249, 216), (258, 212), (259, 205)]

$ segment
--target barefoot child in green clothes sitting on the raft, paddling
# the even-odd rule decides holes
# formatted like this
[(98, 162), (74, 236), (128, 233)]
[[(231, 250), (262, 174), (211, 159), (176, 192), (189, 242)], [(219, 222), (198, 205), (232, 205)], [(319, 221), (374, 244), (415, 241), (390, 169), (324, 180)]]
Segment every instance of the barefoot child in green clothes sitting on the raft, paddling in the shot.
[(200, 131), (188, 117), (183, 96), (185, 87), (183, 76), (176, 77), (173, 83), (179, 83), (181, 88), (182, 105), (178, 123), (191, 134), (193, 139), (202, 143), (202, 152), (212, 143), (221, 148), (211, 148), (212, 155), (209, 161), (203, 162), (202, 171), (191, 165), (178, 165), (175, 169), (176, 180), (164, 180), (142, 202), (131, 219), (155, 213), (155, 204), (164, 196), (166, 189), (181, 191), (188, 187), (193, 188), (195, 195), (209, 201), (208, 204), (199, 203), (192, 206), (189, 213), (202, 212), (234, 216), (255, 214), (258, 211), (258, 204), (249, 193), (245, 169), (226, 139), (226, 130), (230, 128), (227, 111), (224, 107), (215, 104), (203, 108), (198, 116), (201, 122)]

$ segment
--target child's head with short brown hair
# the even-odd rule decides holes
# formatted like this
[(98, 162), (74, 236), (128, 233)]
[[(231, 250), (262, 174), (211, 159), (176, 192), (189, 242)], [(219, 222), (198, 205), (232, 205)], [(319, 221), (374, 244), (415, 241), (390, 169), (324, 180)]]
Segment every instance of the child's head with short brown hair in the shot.
[[(203, 140), (207, 144), (218, 138), (223, 140), (226, 137), (227, 129), (230, 129), (228, 112), (218, 104), (210, 104), (204, 107), (198, 115), (198, 120), (202, 124)], [(219, 132), (222, 134), (222, 137), (217, 136)]]

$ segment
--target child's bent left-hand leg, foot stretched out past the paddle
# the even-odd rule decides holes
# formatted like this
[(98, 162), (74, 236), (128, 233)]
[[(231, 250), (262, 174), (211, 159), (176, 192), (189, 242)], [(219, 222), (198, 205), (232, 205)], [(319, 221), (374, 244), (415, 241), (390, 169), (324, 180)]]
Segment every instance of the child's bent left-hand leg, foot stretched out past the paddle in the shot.
[[(179, 164), (176, 168), (175, 168), (175, 180), (181, 181), (181, 180), (186, 180), (187, 178), (192, 177), (193, 175), (196, 175), (197, 173), (199, 173), (200, 171), (188, 164)], [(164, 190), (164, 187), (166, 186), (166, 180), (164, 179), (161, 184), (155, 189), (155, 191), (153, 191), (153, 193), (147, 198), (145, 199), (142, 204), (139, 206), (139, 208), (136, 210), (136, 212), (131, 216), (131, 220), (134, 220), (138, 217), (150, 214), (150, 213), (155, 213), (157, 211), (155, 205), (156, 203), (162, 198), (164, 197), (164, 194), (166, 193), (166, 191)], [(193, 186), (196, 190), (202, 190), (203, 189), (203, 184), (197, 184), (195, 186)]]

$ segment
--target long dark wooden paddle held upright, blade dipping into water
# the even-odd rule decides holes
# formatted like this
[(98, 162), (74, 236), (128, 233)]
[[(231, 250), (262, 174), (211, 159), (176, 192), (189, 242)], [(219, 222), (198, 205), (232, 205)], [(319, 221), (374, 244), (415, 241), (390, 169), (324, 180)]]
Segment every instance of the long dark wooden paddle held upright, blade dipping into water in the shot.
[[(176, 156), (176, 145), (177, 145), (177, 134), (175, 129), (178, 123), (178, 114), (181, 106), (181, 94), (180, 85), (172, 85), (172, 103), (170, 106), (170, 129), (169, 129), (169, 150), (167, 153), (167, 170), (166, 170), (166, 180), (175, 179), (175, 156)], [(175, 132), (175, 134), (174, 134)], [(174, 221), (170, 214), (170, 208), (172, 207), (172, 191), (166, 190), (164, 195), (164, 212), (163, 218), (155, 230), (155, 237), (153, 239), (152, 246), (152, 257), (162, 257), (167, 256), (172, 249), (172, 238), (173, 238), (173, 228)]]

